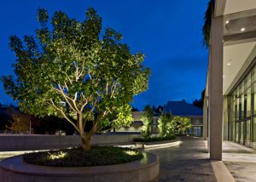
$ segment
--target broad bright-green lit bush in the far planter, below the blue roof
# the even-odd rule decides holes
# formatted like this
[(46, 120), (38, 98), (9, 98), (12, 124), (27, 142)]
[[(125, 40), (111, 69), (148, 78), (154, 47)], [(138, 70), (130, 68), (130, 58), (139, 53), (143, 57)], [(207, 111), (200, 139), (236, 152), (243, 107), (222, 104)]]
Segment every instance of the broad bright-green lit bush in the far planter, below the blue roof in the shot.
[(163, 113), (158, 122), (159, 134), (162, 137), (183, 134), (185, 130), (191, 128), (189, 117), (175, 117), (170, 113)]

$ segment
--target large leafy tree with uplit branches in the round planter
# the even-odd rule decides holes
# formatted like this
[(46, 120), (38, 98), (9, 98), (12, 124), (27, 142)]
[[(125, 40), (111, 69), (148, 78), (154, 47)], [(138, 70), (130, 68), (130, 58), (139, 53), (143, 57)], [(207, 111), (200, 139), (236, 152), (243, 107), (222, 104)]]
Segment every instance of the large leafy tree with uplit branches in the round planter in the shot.
[[(37, 39), (10, 37), (16, 77), (2, 77), (20, 109), (36, 116), (66, 118), (82, 137), (84, 150), (102, 128), (131, 123), (133, 96), (148, 88), (143, 54), (131, 54), (121, 35), (106, 28), (94, 9), (83, 22), (57, 11), (49, 20), (38, 9)], [(89, 132), (86, 122), (93, 120)]]

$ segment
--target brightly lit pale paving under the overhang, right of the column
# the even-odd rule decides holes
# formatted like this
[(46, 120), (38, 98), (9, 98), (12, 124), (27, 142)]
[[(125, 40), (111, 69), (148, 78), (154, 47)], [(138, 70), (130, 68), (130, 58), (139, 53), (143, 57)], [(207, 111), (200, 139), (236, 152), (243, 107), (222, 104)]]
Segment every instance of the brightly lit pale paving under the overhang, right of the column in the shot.
[(232, 142), (223, 142), (223, 161), (237, 182), (256, 181), (256, 151)]

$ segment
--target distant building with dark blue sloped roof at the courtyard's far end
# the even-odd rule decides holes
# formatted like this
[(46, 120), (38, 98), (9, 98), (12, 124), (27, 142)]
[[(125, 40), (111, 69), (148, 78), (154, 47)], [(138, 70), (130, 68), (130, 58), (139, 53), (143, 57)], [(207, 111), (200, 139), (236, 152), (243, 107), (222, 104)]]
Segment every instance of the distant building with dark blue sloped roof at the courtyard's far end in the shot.
[(191, 128), (185, 134), (201, 137), (203, 133), (203, 111), (195, 105), (185, 101), (168, 101), (164, 109), (165, 113), (171, 113), (177, 117), (189, 117)]

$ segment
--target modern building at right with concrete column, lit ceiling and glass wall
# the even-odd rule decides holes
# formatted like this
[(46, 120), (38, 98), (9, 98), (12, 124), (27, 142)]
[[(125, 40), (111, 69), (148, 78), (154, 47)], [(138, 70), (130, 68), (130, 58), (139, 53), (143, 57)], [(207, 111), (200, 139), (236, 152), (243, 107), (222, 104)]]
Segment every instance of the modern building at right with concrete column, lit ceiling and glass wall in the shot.
[(256, 148), (256, 1), (213, 2), (203, 137), (222, 160), (223, 139)]

